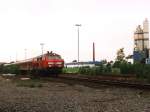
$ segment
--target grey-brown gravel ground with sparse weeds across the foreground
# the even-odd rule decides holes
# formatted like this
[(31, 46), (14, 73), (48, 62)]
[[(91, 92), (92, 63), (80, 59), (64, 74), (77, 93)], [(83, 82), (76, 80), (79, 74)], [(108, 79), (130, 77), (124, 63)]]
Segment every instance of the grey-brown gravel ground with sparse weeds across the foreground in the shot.
[(150, 91), (0, 77), (0, 112), (150, 112)]

